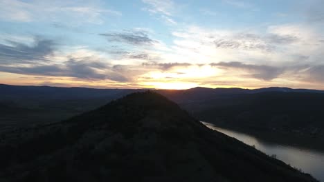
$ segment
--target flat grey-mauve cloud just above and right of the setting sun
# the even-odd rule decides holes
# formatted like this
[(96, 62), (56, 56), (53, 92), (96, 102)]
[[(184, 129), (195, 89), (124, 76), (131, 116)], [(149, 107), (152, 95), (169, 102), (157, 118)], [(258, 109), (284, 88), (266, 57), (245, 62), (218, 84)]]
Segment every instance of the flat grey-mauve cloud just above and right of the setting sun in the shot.
[(277, 68), (269, 65), (251, 65), (240, 62), (219, 62), (210, 63), (210, 65), (224, 69), (233, 68), (245, 70), (249, 72), (249, 74), (251, 74), (252, 77), (266, 81), (276, 79), (284, 71), (282, 68)]

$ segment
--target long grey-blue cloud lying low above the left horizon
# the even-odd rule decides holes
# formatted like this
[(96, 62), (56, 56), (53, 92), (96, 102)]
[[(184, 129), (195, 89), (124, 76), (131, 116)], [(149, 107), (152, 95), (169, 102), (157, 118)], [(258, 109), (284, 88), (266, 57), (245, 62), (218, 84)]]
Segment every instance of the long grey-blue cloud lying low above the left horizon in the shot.
[(103, 63), (85, 60), (76, 61), (74, 59), (70, 59), (62, 65), (34, 65), (31, 67), (0, 66), (0, 71), (53, 77), (74, 77), (86, 80), (128, 80), (122, 74)]

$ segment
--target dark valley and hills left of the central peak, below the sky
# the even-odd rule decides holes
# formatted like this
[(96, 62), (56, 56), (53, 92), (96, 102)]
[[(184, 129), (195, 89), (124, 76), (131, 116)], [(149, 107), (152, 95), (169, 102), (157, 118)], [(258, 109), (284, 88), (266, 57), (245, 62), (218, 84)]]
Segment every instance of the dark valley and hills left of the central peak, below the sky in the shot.
[(136, 91), (0, 84), (0, 133), (61, 121)]

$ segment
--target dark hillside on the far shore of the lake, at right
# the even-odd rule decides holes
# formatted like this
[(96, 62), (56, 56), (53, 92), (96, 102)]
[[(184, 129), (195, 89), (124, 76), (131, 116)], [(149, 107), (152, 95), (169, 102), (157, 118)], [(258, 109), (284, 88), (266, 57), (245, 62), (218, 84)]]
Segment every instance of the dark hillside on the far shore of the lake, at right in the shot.
[[(324, 150), (324, 94), (262, 92), (210, 99), (190, 111), (201, 121), (260, 139)], [(188, 108), (188, 107), (187, 107)]]

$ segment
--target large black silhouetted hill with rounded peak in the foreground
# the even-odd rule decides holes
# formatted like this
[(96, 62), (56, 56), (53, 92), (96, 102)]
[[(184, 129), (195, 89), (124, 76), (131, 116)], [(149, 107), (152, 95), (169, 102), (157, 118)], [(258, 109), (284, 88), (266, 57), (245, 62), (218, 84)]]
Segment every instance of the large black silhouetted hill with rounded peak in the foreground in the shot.
[(0, 181), (315, 181), (154, 92), (2, 136)]

